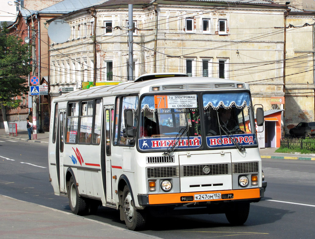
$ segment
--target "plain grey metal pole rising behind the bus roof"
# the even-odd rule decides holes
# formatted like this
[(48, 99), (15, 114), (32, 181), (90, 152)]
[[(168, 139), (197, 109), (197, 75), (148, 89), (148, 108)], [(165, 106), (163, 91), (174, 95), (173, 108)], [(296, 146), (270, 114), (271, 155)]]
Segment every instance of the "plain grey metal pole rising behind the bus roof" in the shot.
[(133, 57), (133, 5), (128, 4), (128, 46), (129, 46), (129, 60), (128, 60), (128, 81), (133, 81), (133, 72), (134, 72), (134, 57)]

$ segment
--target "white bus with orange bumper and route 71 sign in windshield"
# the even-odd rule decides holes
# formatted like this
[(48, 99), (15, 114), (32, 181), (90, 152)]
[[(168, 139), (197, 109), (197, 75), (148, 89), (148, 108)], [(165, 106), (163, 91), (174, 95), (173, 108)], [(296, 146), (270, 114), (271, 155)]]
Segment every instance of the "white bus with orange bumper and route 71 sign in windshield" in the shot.
[(57, 97), (54, 193), (69, 198), (74, 214), (116, 208), (130, 230), (179, 209), (223, 213), (241, 225), (266, 188), (256, 136), (263, 110), (256, 111), (255, 122), (246, 83), (166, 73)]

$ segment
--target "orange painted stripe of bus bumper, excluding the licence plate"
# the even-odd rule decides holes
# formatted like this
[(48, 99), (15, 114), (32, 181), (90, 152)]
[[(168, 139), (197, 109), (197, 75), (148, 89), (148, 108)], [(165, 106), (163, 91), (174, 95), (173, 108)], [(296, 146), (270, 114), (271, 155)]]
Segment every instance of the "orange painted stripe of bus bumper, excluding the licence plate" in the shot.
[[(221, 193), (229, 194), (233, 193), (233, 199), (214, 199), (214, 200), (193, 200), (193, 201), (180, 201), (180, 197), (192, 196), (195, 194), (206, 193)], [(184, 192), (184, 193), (163, 193), (163, 194), (149, 194), (149, 204), (168, 204), (168, 203), (192, 203), (192, 202), (207, 202), (207, 201), (222, 201), (222, 200), (239, 200), (239, 199), (251, 199), (260, 198), (260, 189), (239, 189), (239, 190), (224, 190), (224, 191), (210, 191), (210, 192)]]

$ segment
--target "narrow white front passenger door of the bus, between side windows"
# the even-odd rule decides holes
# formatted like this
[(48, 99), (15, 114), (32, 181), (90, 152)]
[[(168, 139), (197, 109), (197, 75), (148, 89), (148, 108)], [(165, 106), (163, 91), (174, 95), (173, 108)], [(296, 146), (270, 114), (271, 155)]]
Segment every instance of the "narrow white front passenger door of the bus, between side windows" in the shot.
[(104, 106), (105, 119), (105, 161), (106, 161), (106, 202), (113, 203), (112, 194), (112, 158), (111, 158), (111, 144), (112, 144), (112, 120), (114, 115), (113, 106)]

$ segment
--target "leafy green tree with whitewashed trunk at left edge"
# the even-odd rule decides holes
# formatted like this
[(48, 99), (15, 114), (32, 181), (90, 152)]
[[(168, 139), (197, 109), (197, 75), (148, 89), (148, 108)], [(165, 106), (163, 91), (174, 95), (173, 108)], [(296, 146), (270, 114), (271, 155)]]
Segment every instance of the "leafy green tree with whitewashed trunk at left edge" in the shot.
[(20, 37), (11, 35), (7, 23), (0, 30), (0, 108), (6, 134), (9, 134), (7, 107), (17, 108), (21, 100), (14, 99), (28, 92), (28, 84), (23, 76), (31, 71), (31, 53)]

